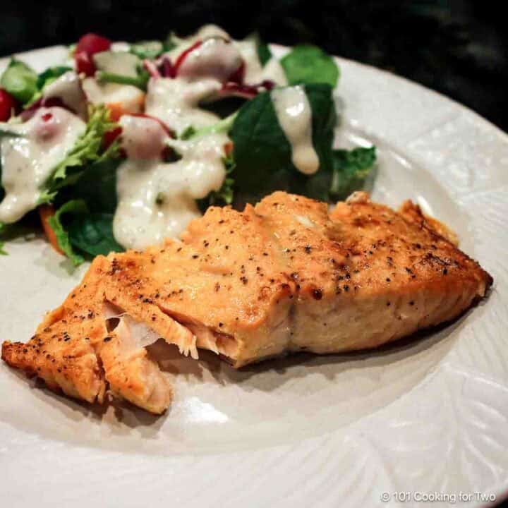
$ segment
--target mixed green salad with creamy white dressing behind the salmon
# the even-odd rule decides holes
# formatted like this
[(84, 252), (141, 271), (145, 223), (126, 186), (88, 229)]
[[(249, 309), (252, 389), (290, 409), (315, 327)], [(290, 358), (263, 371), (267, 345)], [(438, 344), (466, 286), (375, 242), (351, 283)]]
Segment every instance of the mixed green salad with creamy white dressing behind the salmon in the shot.
[(361, 188), (375, 147), (334, 149), (336, 61), (309, 45), (277, 59), (257, 36), (111, 42), (0, 77), (0, 251), (40, 221), (74, 265), (178, 237), (210, 205), (274, 190), (332, 202)]

